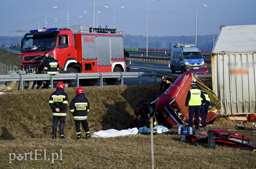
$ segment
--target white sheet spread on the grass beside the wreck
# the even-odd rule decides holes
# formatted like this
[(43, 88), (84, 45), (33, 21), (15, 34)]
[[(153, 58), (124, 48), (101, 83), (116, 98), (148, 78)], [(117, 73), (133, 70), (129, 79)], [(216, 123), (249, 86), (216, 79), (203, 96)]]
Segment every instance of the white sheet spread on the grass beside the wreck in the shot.
[(92, 133), (92, 137), (118, 137), (118, 136), (127, 136), (130, 134), (136, 135), (138, 133), (138, 129), (132, 128), (127, 130), (115, 130), (115, 129), (109, 129), (109, 130), (100, 130), (97, 132)]

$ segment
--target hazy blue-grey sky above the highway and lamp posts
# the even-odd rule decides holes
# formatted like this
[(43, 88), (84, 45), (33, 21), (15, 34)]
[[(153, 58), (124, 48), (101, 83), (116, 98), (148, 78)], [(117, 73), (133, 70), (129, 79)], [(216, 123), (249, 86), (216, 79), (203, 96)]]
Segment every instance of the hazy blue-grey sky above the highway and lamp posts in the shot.
[[(96, 1), (95, 13), (96, 13)], [(149, 1), (149, 0), (146, 0)], [(196, 10), (197, 2), (197, 10)], [(256, 24), (256, 0), (158, 0), (148, 2), (148, 36), (195, 35), (197, 11), (197, 35), (213, 34), (213, 8), (215, 9), (215, 34), (221, 25)], [(57, 6), (56, 9), (47, 9)], [(144, 35), (147, 31), (147, 3), (140, 0), (98, 0), (98, 27), (115, 27), (124, 34)], [(47, 9), (47, 10), (46, 10)], [(45, 26), (67, 27), (70, 25), (92, 26), (93, 0), (0, 0), (0, 36), (17, 28), (26, 31)], [(88, 13), (84, 13), (87, 11)], [(78, 17), (82, 16), (82, 17)], [(57, 20), (56, 20), (56, 19)], [(57, 21), (57, 22), (54, 22)], [(31, 25), (32, 24), (32, 25)], [(27, 26), (27, 27), (26, 27)], [(35, 26), (35, 27), (33, 27)], [(22, 28), (21, 28), (22, 27)], [(28, 28), (29, 27), (29, 28)], [(96, 14), (95, 14), (96, 27)], [(15, 33), (12, 33), (13, 36)]]

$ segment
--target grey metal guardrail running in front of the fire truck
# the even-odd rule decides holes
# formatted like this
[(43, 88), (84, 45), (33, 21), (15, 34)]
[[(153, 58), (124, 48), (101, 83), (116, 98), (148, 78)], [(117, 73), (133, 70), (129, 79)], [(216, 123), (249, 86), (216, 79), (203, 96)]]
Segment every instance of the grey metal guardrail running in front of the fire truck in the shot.
[[(19, 81), (20, 82), (20, 89), (24, 89), (24, 82), (25, 81), (42, 81), (42, 80), (51, 80), (51, 84), (53, 81), (56, 80), (70, 80), (76, 79), (76, 87), (79, 87), (79, 80), (81, 79), (100, 79), (100, 87), (103, 87), (103, 78), (120, 78), (121, 77), (121, 86), (124, 85), (124, 78), (140, 78), (140, 85), (141, 85), (141, 77), (162, 77), (167, 74), (162, 74), (158, 72), (112, 72), (112, 73), (71, 73), (71, 74), (24, 74), (24, 75), (0, 75), (0, 81)], [(170, 75), (168, 75), (170, 76)], [(173, 76), (177, 77), (177, 76)], [(53, 88), (53, 85), (51, 85)]]

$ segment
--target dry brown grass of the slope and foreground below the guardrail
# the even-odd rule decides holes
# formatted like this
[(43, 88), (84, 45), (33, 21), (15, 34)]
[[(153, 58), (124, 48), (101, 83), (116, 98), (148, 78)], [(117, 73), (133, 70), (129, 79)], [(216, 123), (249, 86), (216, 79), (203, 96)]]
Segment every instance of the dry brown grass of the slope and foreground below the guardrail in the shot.
[[(1, 55), (0, 55), (1, 58)], [(135, 117), (133, 108), (144, 97), (154, 97), (159, 84), (85, 87), (91, 108), (88, 123), (91, 133), (98, 130), (123, 130)], [(69, 102), (76, 88), (67, 88)], [(52, 114), (48, 99), (55, 89), (6, 92), (0, 95), (0, 166), (1, 168), (150, 168), (150, 136), (129, 135), (114, 138), (75, 140), (75, 124), (69, 113), (65, 124), (65, 140), (51, 139)], [(211, 128), (234, 129), (238, 123), (220, 118)], [(248, 123), (245, 123), (246, 127)], [(82, 126), (81, 126), (82, 129)], [(171, 131), (177, 128), (170, 129)], [(207, 131), (203, 129), (201, 131)], [(252, 131), (237, 130), (256, 144)], [(82, 130), (84, 136), (84, 131)], [(196, 134), (198, 136), (198, 133)], [(206, 144), (194, 146), (179, 142), (179, 135), (154, 135), (155, 168), (254, 168), (256, 152)], [(61, 159), (60, 160), (60, 149)], [(35, 160), (35, 150), (37, 159)], [(45, 159), (44, 160), (44, 150)], [(13, 154), (32, 152), (27, 160), (14, 159)], [(53, 154), (56, 153), (56, 154)], [(58, 153), (58, 159), (57, 159)], [(38, 155), (40, 154), (40, 155)], [(57, 159), (52, 163), (52, 156)], [(33, 159), (33, 160), (32, 160)], [(50, 159), (50, 160), (49, 160)]]

